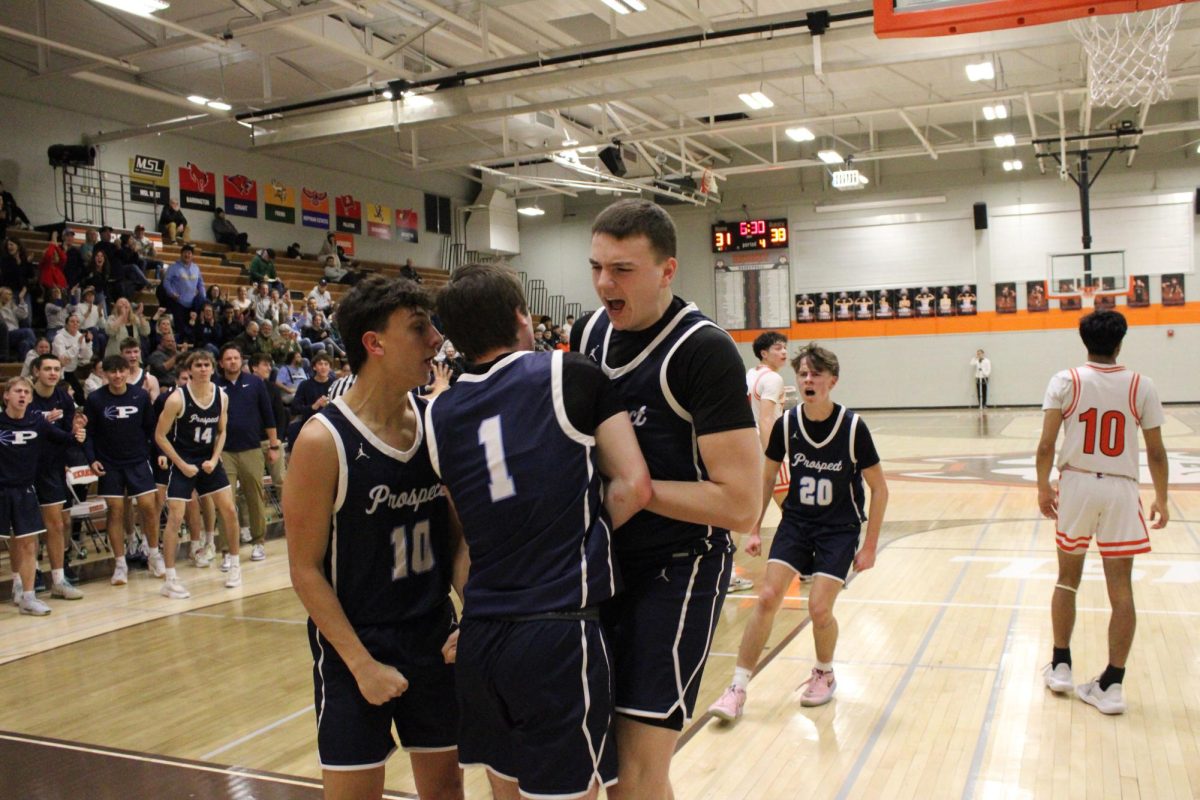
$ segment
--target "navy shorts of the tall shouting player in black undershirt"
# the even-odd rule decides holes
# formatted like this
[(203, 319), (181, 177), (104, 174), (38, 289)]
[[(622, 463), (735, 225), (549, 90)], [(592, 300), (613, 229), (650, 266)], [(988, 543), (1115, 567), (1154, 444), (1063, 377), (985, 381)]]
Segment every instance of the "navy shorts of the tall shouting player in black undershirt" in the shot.
[(605, 603), (617, 712), (683, 730), (733, 570), (727, 534), (654, 559), (623, 558), (623, 591)]

